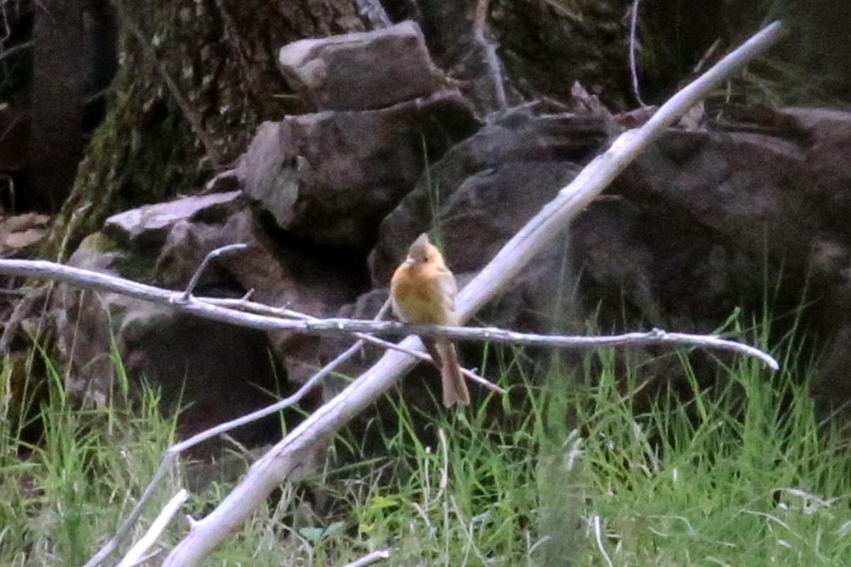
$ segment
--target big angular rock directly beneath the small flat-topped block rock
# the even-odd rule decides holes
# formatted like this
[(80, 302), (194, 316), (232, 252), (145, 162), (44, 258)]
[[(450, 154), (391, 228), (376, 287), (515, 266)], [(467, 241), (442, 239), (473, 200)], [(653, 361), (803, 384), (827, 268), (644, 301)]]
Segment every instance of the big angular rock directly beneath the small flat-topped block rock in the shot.
[(237, 176), (283, 230), (362, 252), (427, 163), (478, 127), (453, 91), (380, 111), (288, 116), (260, 127)]

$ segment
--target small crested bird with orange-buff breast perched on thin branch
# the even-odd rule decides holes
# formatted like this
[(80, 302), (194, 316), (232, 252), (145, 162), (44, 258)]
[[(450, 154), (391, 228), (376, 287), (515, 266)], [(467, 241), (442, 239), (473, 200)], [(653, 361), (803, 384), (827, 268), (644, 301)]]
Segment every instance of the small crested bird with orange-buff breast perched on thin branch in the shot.
[[(458, 326), (457, 293), (455, 277), (446, 267), (443, 254), (431, 244), (427, 234), (420, 235), (390, 281), (393, 314), (405, 323)], [(440, 370), (443, 405), (470, 405), (470, 391), (461, 374), (454, 344), (446, 337), (422, 337), (422, 341)]]

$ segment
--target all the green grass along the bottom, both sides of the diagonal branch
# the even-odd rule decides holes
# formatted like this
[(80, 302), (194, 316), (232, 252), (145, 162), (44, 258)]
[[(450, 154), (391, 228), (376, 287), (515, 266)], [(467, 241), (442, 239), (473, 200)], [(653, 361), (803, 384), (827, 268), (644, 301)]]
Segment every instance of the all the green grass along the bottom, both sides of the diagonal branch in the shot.
[[(803, 356), (791, 336), (775, 353), (785, 368)], [(483, 373), (511, 374), (509, 397), (427, 416), (397, 405), (369, 425), (384, 432), (377, 456), (284, 488), (208, 564), (341, 565), (383, 548), (383, 564), (406, 566), (851, 564), (851, 453), (817, 434), (807, 376), (740, 360), (701, 389), (683, 362), (687, 400), (663, 388), (648, 401), (609, 351), (573, 374), (554, 363), (535, 386), (502, 358), (510, 369), (491, 355)], [(135, 411), (77, 411), (52, 376), (43, 439), (23, 458), (19, 427), (0, 439), (3, 565), (82, 563), (173, 436), (153, 394)], [(362, 442), (344, 435), (332, 455)], [(137, 538), (177, 488), (163, 485)], [(228, 488), (193, 494), (187, 513)], [(175, 521), (163, 546), (185, 530)]]

